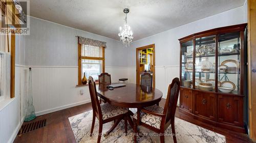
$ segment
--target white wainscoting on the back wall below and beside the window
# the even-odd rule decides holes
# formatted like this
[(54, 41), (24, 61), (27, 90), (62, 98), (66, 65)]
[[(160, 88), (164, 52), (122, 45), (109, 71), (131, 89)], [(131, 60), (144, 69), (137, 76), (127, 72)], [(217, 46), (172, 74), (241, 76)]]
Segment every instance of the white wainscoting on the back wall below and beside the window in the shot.
[[(76, 88), (77, 67), (27, 66), (32, 67), (33, 101), (36, 115), (91, 102), (88, 87)], [(112, 82), (128, 78), (126, 67), (105, 67)], [(83, 95), (80, 94), (83, 90)]]

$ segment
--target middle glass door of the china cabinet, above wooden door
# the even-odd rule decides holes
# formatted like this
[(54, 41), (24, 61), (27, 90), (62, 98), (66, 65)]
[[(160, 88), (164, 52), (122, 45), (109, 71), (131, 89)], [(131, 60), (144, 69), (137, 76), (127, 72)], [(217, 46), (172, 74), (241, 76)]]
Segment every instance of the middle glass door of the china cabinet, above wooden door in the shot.
[(216, 35), (196, 39), (195, 89), (215, 91)]

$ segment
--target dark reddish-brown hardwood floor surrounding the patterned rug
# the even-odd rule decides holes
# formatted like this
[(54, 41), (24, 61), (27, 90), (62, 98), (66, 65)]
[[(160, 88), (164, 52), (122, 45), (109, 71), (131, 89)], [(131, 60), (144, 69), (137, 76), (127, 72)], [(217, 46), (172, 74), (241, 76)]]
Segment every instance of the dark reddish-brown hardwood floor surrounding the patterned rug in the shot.
[[(160, 106), (164, 106), (165, 99), (162, 99), (160, 102)], [(68, 109), (63, 109), (60, 111), (48, 113), (46, 115), (42, 115), (37, 117), (35, 120), (31, 121), (37, 121), (41, 119), (47, 119), (47, 125), (46, 127), (25, 133), (22, 135), (22, 137), (16, 137), (14, 142), (17, 143), (29, 143), (29, 142), (76, 142), (73, 131), (71, 129), (70, 123), (68, 118), (72, 117), (74, 115), (78, 115), (79, 113), (91, 110), (91, 103), (83, 104), (75, 107), (71, 107)], [(207, 125), (205, 123), (194, 121), (190, 117), (184, 115), (183, 113), (180, 113), (178, 108), (176, 111), (176, 117), (189, 121), (190, 123), (197, 124), (203, 128), (215, 131), (217, 133), (223, 134), (226, 136), (227, 142), (252, 142), (248, 135), (237, 133), (229, 130), (225, 130), (222, 128), (213, 127), (210, 125)], [(26, 122), (24, 124), (28, 124), (30, 122)], [(129, 126), (130, 127), (130, 126)]]

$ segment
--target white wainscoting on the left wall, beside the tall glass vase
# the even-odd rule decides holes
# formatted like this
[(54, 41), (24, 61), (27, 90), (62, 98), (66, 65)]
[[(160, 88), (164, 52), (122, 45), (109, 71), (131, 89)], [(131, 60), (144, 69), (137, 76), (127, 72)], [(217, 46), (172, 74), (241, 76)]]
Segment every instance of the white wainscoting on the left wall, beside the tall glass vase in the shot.
[[(0, 142), (13, 142), (20, 128), (20, 99), (22, 123), (26, 114), (27, 85), (26, 70), (24, 66), (15, 67), (15, 97), (7, 97), (8, 104), (0, 110)], [(21, 83), (21, 84), (20, 84)], [(19, 90), (20, 89), (20, 90)], [(20, 98), (21, 96), (21, 98)], [(8, 99), (9, 98), (9, 99)]]

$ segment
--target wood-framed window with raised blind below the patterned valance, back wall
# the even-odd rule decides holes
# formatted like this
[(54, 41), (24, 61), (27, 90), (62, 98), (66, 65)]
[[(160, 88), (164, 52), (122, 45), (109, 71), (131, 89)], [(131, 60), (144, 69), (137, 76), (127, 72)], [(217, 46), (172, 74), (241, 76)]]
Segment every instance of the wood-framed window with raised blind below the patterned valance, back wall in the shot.
[(92, 76), (98, 81), (100, 73), (104, 72), (104, 47), (78, 44), (78, 84), (85, 73), (86, 78)]

